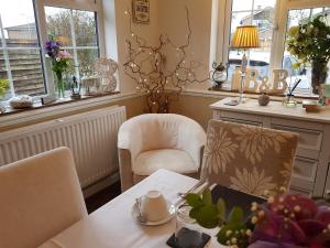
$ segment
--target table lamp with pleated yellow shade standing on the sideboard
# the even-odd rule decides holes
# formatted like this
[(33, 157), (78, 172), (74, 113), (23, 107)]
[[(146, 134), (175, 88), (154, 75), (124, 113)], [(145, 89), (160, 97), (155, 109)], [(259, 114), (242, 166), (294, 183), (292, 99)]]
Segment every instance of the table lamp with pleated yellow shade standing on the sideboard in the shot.
[(232, 40), (231, 48), (243, 50), (242, 65), (241, 65), (241, 85), (240, 85), (240, 98), (233, 101), (231, 105), (239, 105), (243, 100), (243, 90), (246, 75), (248, 58), (245, 55), (246, 50), (260, 47), (260, 40), (257, 33), (257, 26), (255, 25), (241, 25), (238, 26)]

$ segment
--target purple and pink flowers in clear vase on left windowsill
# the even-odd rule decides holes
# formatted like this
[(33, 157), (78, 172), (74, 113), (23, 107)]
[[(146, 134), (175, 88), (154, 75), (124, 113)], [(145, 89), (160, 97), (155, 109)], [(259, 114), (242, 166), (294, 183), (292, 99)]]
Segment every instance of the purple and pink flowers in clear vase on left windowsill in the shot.
[(55, 41), (54, 36), (46, 42), (45, 45), (46, 56), (52, 60), (52, 71), (56, 75), (58, 98), (65, 97), (65, 84), (63, 74), (67, 72), (72, 65), (72, 55), (63, 50), (63, 43)]

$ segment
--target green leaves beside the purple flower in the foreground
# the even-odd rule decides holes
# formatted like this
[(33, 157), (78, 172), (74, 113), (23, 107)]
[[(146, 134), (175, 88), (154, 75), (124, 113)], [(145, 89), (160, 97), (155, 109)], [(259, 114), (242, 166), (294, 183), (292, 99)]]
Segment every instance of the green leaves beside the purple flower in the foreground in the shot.
[[(233, 207), (226, 217), (226, 202), (219, 198), (217, 204), (212, 202), (209, 188), (201, 194), (188, 194), (187, 202), (193, 207), (189, 216), (205, 228), (221, 227), (217, 234), (217, 239), (222, 245), (238, 245), (245, 248), (249, 245), (246, 235), (248, 224), (244, 222), (244, 215), (241, 207)], [(250, 227), (250, 226), (249, 226)], [(232, 240), (237, 240), (235, 244)]]

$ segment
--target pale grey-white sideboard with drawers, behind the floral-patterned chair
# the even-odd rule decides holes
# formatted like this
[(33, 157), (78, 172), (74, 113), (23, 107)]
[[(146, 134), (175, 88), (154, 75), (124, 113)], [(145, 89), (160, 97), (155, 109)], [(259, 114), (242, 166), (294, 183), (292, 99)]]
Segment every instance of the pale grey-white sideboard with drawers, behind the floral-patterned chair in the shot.
[(262, 107), (255, 99), (228, 106), (230, 98), (210, 105), (213, 119), (255, 125), (299, 133), (290, 191), (321, 196), (330, 190), (330, 108), (306, 112), (301, 105), (285, 107), (271, 101)]

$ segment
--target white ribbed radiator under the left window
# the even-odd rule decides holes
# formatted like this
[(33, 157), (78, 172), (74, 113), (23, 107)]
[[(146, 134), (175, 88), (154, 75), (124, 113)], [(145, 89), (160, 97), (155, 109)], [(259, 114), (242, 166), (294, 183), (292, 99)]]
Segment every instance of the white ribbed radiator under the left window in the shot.
[(125, 107), (109, 107), (0, 133), (0, 165), (68, 147), (81, 187), (118, 172), (117, 136)]

